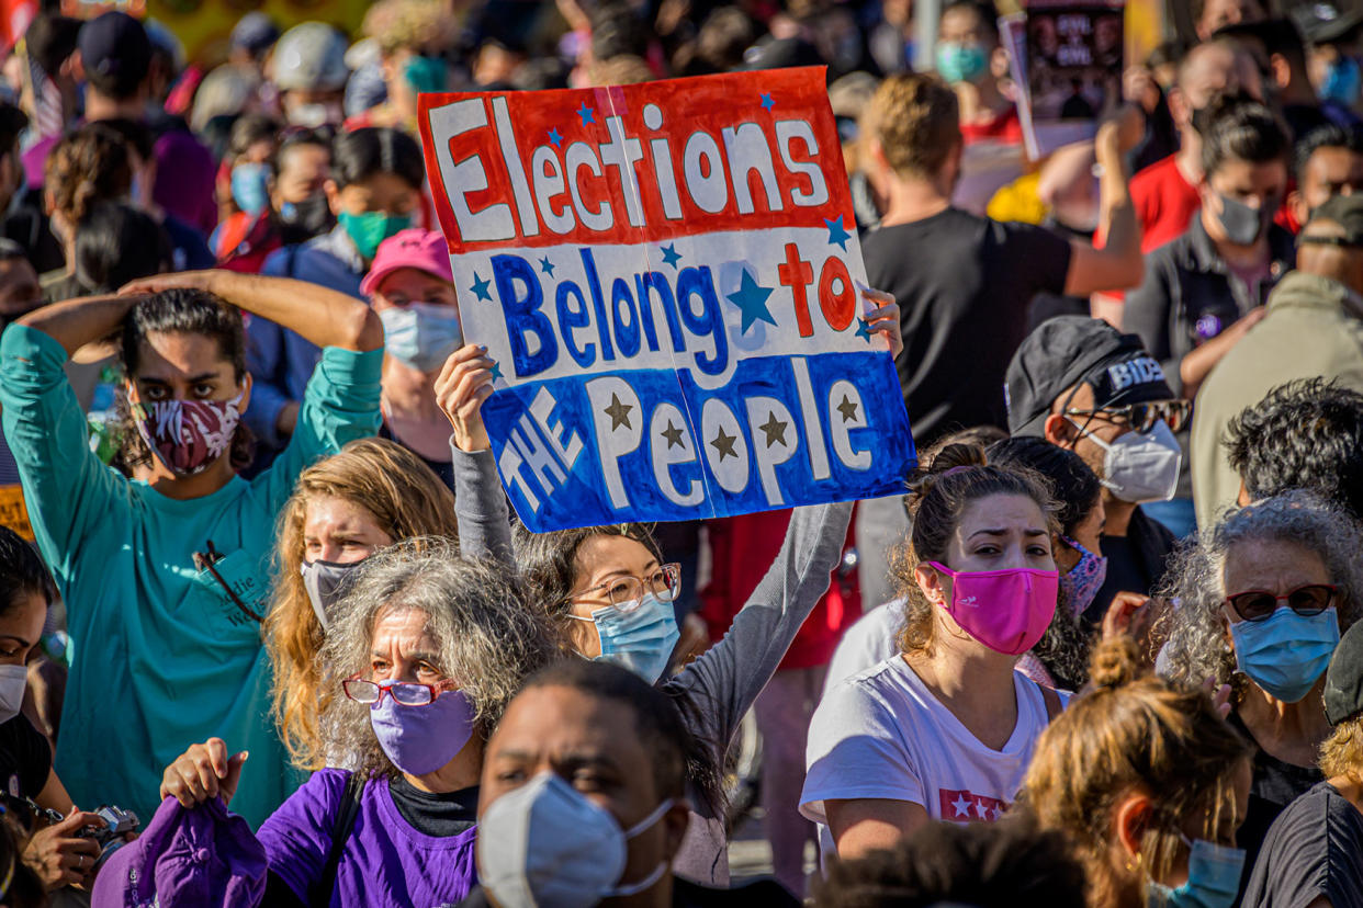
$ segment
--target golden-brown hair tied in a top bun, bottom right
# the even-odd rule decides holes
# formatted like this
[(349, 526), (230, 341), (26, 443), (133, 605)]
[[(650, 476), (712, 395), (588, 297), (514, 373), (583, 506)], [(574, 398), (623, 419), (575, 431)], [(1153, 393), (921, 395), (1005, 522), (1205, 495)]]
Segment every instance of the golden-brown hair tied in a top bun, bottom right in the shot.
[(1137, 871), (1163, 879), (1190, 820), (1201, 822), (1197, 837), (1210, 841), (1243, 820), (1234, 815), (1235, 775), (1253, 747), (1201, 687), (1138, 677), (1129, 637), (1096, 647), (1090, 679), (1037, 741), (1020, 810), (1070, 837), (1089, 873), (1089, 904), (1114, 905), (1123, 903), (1124, 885), (1111, 848), (1119, 802), (1131, 792), (1150, 796)]

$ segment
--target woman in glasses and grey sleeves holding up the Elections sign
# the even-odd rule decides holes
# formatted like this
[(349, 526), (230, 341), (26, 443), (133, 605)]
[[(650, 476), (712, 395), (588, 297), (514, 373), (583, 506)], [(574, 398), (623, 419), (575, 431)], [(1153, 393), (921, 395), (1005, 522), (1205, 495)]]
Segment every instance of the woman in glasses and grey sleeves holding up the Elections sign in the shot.
[[(889, 339), (890, 355), (898, 355), (900, 308), (889, 294), (868, 290), (866, 297), (875, 305), (866, 321)], [(725, 886), (724, 754), (740, 719), (827, 589), (852, 504), (796, 508), (780, 554), (729, 633), (669, 675), (679, 638), (671, 604), (677, 594), (677, 566), (665, 562), (647, 528), (518, 531), (512, 542), (480, 412), (492, 395), (492, 365), (485, 348), (470, 344), (450, 357), (436, 381), (436, 398), (454, 426), (455, 512), (463, 555), (492, 555), (519, 570), (582, 656), (624, 666), (677, 701), (698, 747), (687, 757), (692, 822), (673, 869), (688, 879)]]

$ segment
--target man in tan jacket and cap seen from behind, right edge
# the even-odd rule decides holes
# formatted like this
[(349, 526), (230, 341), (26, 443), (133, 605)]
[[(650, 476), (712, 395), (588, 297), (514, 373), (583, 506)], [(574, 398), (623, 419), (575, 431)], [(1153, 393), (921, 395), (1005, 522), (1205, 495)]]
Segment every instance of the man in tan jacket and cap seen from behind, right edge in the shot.
[(1363, 391), (1363, 195), (1334, 196), (1313, 212), (1298, 240), (1296, 271), (1202, 383), (1191, 432), (1201, 525), (1240, 493), (1223, 445), (1231, 421), (1273, 388), (1315, 377)]

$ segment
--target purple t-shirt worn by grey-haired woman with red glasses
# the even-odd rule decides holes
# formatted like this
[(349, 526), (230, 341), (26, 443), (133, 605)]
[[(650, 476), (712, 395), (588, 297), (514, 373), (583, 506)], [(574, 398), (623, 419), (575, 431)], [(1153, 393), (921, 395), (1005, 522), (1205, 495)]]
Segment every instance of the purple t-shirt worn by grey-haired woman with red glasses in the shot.
[[(260, 825), (270, 871), (308, 900), (331, 847), (331, 829), (350, 773), (322, 769)], [(386, 779), (371, 780), (360, 796), (354, 829), (341, 852), (333, 908), (440, 908), (454, 905), (477, 882), (473, 844), (477, 828), (458, 836), (417, 832), (402, 818)]]

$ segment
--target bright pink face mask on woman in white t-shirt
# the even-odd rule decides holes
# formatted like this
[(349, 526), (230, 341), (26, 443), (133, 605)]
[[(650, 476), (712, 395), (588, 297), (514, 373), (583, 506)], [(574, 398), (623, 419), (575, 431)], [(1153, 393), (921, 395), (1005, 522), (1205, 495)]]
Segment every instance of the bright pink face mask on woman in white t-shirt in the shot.
[(943, 606), (955, 623), (995, 652), (1017, 656), (1036, 645), (1055, 617), (1058, 570), (951, 570), (932, 568), (951, 579), (951, 602)]

